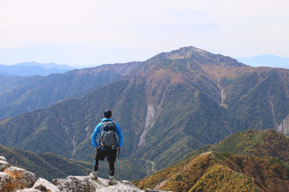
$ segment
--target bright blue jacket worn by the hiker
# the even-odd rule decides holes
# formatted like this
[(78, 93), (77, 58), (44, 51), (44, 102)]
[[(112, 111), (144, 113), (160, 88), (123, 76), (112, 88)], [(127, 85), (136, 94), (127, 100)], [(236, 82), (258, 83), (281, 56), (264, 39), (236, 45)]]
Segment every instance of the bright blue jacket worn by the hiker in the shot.
[[(97, 147), (98, 146), (98, 142), (97, 142), (97, 140), (96, 140), (96, 137), (97, 137), (97, 134), (99, 133), (99, 129), (101, 128), (101, 125), (102, 125), (102, 122), (104, 122), (104, 121), (112, 121), (112, 119), (110, 119), (110, 118), (104, 118), (104, 119), (102, 119), (101, 120), (101, 122), (95, 127), (95, 129), (94, 129), (94, 131), (93, 131), (93, 133), (92, 133), (92, 136), (91, 136), (91, 142), (92, 142), (92, 145), (94, 146), (94, 147)], [(117, 123), (115, 123), (115, 125), (116, 125), (116, 129), (115, 129), (115, 132), (117, 133), (117, 135), (118, 135), (118, 138), (119, 138), (119, 140), (118, 140), (118, 146), (119, 147), (123, 147), (123, 133), (121, 132), (121, 128), (119, 127), (119, 125), (117, 124)], [(102, 129), (101, 129), (101, 132), (102, 132)], [(100, 133), (100, 135), (101, 135), (101, 133)], [(102, 147), (101, 147), (101, 149), (102, 150), (105, 150), (105, 149), (103, 149)], [(113, 148), (114, 149), (114, 148)], [(112, 149), (112, 150), (113, 150)]]

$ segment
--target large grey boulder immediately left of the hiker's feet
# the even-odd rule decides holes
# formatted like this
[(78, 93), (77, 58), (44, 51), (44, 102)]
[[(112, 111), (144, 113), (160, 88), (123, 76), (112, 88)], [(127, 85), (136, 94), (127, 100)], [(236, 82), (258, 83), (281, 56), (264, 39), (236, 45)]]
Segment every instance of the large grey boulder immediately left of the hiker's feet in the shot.
[(94, 192), (89, 176), (68, 176), (58, 186), (62, 192)]

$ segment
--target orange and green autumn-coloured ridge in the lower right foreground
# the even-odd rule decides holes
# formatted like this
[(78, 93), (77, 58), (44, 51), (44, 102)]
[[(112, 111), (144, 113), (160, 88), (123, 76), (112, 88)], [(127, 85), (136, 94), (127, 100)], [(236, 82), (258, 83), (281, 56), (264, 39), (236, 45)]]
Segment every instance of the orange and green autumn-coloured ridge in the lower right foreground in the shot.
[(289, 137), (276, 130), (247, 129), (132, 183), (171, 191), (288, 191), (288, 146)]

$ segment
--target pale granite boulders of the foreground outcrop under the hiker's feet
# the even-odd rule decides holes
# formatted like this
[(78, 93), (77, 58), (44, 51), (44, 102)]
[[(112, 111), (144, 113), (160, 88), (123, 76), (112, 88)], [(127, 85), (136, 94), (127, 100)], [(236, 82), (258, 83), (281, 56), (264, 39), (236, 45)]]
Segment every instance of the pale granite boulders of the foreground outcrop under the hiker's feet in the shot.
[(4, 157), (0, 157), (2, 170), (0, 171), (1, 192), (102, 192), (102, 191), (123, 191), (123, 192), (163, 192), (157, 189), (138, 189), (129, 181), (116, 181), (108, 187), (108, 180), (98, 178), (93, 181), (89, 176), (68, 176), (65, 179), (56, 178), (53, 183), (38, 178), (35, 181), (35, 174), (19, 167), (7, 167), (8, 163)]

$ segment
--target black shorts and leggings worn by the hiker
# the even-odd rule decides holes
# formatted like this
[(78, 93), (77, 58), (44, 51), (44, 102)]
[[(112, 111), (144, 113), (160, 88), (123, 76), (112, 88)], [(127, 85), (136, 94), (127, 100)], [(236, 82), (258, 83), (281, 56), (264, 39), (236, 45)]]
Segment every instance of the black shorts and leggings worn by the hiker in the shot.
[(98, 170), (98, 161), (103, 161), (105, 157), (108, 157), (108, 164), (109, 164), (109, 175), (114, 176), (114, 162), (116, 160), (116, 149), (114, 150), (101, 150), (97, 149), (96, 154), (94, 156), (95, 164), (93, 171)]

